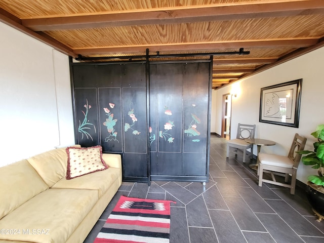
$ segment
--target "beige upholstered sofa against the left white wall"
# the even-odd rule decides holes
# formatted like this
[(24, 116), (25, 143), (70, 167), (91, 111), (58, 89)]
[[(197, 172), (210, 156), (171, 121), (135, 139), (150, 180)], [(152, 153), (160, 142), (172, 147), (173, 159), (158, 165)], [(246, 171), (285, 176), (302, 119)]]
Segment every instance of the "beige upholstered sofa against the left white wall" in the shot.
[(0, 168), (0, 242), (83, 242), (121, 185), (121, 157), (107, 170), (65, 179), (67, 153), (54, 149)]

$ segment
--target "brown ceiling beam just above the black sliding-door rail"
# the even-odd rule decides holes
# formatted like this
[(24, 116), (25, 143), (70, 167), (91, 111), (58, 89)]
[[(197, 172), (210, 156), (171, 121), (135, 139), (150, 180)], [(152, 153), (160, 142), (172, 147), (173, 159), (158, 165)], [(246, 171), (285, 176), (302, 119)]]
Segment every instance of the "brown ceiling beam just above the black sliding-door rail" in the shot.
[(154, 44), (141, 46), (120, 46), (120, 47), (96, 47), (74, 49), (74, 53), (80, 55), (96, 54), (116, 54), (116, 53), (145, 53), (157, 51), (215, 51), (219, 49), (239, 49), (239, 48), (305, 48), (315, 45), (317, 38), (293, 38), (293, 39), (260, 39), (248, 41), (227, 41), (214, 43), (179, 43), (179, 44)]

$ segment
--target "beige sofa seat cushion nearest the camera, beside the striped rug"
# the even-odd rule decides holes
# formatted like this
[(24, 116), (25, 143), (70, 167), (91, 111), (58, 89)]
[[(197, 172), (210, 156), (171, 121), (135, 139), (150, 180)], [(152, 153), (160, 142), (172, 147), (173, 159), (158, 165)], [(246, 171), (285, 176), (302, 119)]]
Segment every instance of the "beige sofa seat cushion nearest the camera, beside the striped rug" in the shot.
[(96, 190), (50, 188), (0, 220), (0, 229), (20, 230), (0, 234), (0, 240), (65, 242), (97, 200)]

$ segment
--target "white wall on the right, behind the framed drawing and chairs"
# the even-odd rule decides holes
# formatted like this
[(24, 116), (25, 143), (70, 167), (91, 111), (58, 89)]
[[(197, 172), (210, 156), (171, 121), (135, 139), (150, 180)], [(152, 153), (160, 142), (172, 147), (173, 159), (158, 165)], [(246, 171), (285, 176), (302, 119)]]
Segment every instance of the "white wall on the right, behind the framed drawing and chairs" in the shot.
[[(260, 89), (299, 78), (303, 79), (299, 128), (259, 123)], [(232, 99), (231, 138), (236, 135), (238, 123), (256, 124), (256, 138), (276, 142), (275, 146), (263, 146), (263, 152), (287, 155), (295, 133), (307, 137), (305, 149), (313, 150), (315, 139), (310, 133), (317, 125), (324, 124), (324, 48), (217, 90), (216, 106), (212, 109), (216, 110), (215, 131), (218, 134), (221, 133), (222, 95), (232, 90), (237, 91), (237, 97)], [(306, 183), (307, 176), (315, 173), (316, 170), (300, 163), (297, 179)]]

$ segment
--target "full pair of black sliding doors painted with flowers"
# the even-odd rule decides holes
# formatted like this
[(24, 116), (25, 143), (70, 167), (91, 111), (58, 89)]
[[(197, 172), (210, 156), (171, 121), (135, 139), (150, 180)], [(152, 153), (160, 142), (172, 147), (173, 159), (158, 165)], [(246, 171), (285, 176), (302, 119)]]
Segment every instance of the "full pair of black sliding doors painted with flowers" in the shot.
[(146, 65), (71, 64), (76, 143), (121, 154), (124, 181), (207, 181), (211, 63)]

